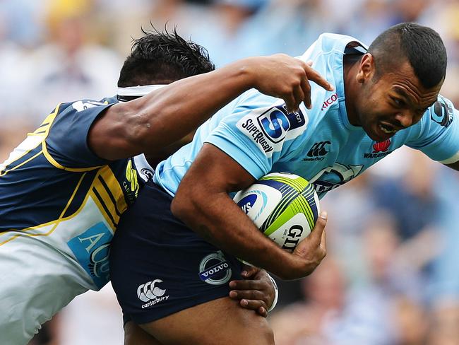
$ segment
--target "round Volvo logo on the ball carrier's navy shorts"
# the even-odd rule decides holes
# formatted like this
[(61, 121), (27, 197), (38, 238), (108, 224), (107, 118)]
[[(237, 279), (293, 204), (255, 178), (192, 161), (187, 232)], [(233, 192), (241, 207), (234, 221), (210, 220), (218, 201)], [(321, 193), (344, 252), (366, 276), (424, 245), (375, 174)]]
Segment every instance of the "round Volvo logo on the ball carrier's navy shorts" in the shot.
[(199, 278), (211, 285), (222, 285), (231, 279), (231, 268), (219, 250), (204, 257), (199, 264)]

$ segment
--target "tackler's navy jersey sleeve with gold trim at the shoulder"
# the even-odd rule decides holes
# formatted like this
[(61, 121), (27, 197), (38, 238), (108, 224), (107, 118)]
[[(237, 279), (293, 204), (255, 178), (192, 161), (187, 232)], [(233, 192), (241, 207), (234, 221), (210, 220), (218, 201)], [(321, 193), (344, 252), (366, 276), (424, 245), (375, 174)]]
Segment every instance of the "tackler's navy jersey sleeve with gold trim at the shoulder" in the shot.
[(109, 163), (99, 158), (88, 146), (88, 132), (93, 122), (108, 107), (117, 103), (114, 98), (105, 102), (78, 100), (61, 104), (49, 133), (45, 156), (58, 168), (93, 168)]

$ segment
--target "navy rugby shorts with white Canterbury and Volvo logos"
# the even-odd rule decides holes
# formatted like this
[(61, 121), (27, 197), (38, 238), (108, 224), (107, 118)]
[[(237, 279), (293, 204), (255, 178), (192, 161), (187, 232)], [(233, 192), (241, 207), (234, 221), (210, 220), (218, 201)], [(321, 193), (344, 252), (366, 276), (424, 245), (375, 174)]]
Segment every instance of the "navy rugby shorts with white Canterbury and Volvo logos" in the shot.
[(229, 281), (242, 279), (241, 262), (174, 217), (171, 201), (148, 182), (114, 234), (110, 276), (125, 322), (151, 322), (228, 296)]

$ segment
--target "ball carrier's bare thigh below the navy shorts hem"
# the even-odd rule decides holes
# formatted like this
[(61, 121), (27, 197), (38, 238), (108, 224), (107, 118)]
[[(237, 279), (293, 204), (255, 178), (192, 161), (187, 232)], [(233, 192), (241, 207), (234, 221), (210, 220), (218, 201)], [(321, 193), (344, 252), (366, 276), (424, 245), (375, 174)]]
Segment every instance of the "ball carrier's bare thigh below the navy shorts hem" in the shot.
[(162, 344), (274, 344), (266, 318), (224, 297), (181, 310), (141, 327)]

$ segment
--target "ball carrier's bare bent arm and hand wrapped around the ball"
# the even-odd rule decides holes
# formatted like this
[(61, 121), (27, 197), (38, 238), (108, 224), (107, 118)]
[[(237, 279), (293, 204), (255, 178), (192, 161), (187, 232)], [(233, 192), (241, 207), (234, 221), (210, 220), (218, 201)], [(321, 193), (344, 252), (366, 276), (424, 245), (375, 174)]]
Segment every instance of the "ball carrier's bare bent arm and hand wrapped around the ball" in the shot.
[(213, 245), (281, 279), (311, 274), (326, 254), (326, 215), (293, 254), (263, 235), (228, 196), (254, 182), (249, 172), (212, 144), (204, 144), (172, 201), (172, 213)]

